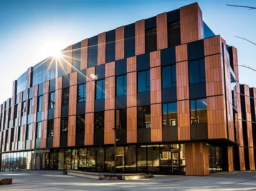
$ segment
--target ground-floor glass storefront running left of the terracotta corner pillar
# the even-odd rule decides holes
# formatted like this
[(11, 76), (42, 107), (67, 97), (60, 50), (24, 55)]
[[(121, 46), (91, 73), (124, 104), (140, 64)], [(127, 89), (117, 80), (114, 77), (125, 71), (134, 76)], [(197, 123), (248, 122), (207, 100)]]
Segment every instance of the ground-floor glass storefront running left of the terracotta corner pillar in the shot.
[(185, 174), (185, 145), (156, 144), (114, 147), (60, 148), (2, 153), (1, 171), (84, 170), (118, 173)]

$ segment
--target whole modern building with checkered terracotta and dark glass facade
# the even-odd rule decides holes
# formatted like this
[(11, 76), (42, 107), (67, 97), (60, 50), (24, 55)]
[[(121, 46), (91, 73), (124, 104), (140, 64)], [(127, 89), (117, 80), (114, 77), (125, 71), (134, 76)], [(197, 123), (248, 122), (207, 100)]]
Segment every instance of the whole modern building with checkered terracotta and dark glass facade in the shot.
[(256, 89), (197, 3), (68, 46), (0, 105), (1, 171), (255, 170), (255, 138)]

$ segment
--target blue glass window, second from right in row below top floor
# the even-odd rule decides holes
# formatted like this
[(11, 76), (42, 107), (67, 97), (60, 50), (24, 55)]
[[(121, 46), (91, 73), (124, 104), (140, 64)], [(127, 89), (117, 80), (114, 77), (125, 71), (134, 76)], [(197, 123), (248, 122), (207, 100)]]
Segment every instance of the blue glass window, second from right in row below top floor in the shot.
[(176, 65), (162, 67), (162, 88), (176, 86)]

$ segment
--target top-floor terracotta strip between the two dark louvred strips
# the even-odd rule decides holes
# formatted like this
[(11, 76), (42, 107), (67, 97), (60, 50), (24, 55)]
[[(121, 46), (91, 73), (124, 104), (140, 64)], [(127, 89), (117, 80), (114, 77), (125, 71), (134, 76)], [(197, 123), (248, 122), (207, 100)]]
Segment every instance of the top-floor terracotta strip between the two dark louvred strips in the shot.
[(157, 50), (168, 48), (167, 13), (156, 16)]

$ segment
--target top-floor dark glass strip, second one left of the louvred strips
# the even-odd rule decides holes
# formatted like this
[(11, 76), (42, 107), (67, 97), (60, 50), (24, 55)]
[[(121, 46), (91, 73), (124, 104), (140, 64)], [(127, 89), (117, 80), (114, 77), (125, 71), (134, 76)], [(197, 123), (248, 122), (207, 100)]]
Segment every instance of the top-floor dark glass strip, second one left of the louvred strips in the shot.
[(106, 32), (106, 63), (115, 61), (115, 29)]

